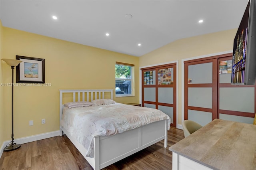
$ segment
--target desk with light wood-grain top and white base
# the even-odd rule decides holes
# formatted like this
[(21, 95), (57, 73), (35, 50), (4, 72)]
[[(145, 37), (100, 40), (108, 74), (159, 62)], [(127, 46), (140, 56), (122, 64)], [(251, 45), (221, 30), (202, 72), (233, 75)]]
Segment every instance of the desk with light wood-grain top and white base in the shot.
[(256, 125), (215, 119), (169, 150), (172, 170), (256, 170)]

